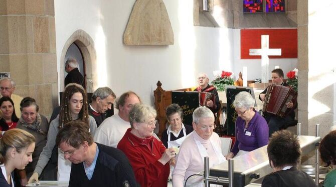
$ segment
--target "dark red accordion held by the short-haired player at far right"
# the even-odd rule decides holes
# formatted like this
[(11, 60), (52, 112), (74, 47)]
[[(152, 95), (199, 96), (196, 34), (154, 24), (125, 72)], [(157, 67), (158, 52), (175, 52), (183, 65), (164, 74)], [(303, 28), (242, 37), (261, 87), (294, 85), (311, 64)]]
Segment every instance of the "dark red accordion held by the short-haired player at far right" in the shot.
[(292, 108), (287, 108), (286, 103), (292, 101), (295, 105), (296, 97), (297, 92), (293, 88), (271, 84), (267, 88), (262, 111), (284, 117), (292, 110)]

